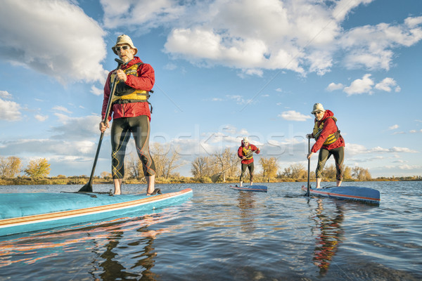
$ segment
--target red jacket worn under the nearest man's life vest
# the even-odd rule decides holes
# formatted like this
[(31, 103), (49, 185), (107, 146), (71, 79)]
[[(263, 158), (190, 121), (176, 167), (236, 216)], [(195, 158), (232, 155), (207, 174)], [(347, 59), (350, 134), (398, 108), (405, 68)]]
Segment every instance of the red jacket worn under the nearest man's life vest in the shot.
[[(141, 59), (138, 57), (134, 57), (133, 60), (129, 61), (127, 65), (122, 66), (122, 70), (134, 65), (135, 63), (142, 63)], [(108, 73), (106, 85), (104, 85), (104, 100), (103, 100), (103, 110), (101, 111), (101, 116), (106, 116), (107, 110), (107, 103), (108, 97), (110, 96), (110, 76), (115, 70)], [(127, 80), (124, 84), (127, 86), (131, 86), (136, 90), (144, 90), (144, 91), (151, 91), (153, 89), (155, 83), (155, 74), (153, 67), (144, 63), (143, 65), (139, 65), (138, 68), (138, 77), (133, 75), (127, 75)], [(136, 117), (140, 115), (147, 115), (151, 121), (151, 112), (148, 103), (125, 103), (122, 105), (115, 104), (111, 107), (110, 116), (108, 117), (108, 121), (111, 120), (111, 115), (113, 113), (113, 118), (121, 118), (121, 117)]]

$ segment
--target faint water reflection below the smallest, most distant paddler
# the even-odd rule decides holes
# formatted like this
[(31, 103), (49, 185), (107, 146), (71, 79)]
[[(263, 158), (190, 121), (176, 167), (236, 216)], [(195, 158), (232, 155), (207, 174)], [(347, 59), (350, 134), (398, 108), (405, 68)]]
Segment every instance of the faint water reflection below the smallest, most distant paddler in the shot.
[(241, 230), (246, 233), (253, 232), (256, 229), (255, 226), (255, 194), (248, 191), (238, 192), (238, 207), (240, 210), (241, 217)]

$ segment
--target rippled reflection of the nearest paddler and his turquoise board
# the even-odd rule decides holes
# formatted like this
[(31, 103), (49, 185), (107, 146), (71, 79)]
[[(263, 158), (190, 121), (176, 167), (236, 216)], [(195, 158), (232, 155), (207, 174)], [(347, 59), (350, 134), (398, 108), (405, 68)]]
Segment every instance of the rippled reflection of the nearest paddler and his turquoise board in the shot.
[(72, 276), (75, 280), (87, 273), (93, 280), (155, 280), (157, 276), (151, 272), (157, 255), (154, 241), (172, 227), (153, 230), (151, 226), (171, 218), (172, 214), (119, 218), (0, 241), (0, 268), (13, 263), (39, 263), (63, 252), (87, 256), (91, 251), (94, 257), (82, 266), (85, 269)]

